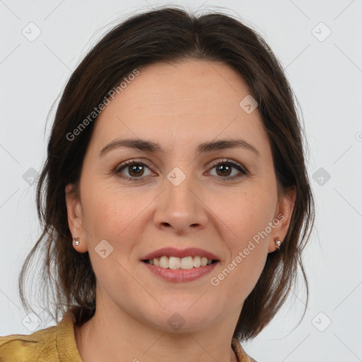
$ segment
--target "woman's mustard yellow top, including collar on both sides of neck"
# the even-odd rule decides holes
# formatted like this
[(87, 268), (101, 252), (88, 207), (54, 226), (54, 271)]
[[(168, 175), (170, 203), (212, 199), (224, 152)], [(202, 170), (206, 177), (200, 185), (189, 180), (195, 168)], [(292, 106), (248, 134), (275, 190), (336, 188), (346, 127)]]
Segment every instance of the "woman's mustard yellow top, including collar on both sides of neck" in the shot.
[[(9, 334), (0, 337), (0, 362), (83, 362), (74, 337), (76, 317), (69, 310), (52, 327), (32, 334)], [(231, 344), (239, 362), (257, 362), (245, 353), (238, 339)]]

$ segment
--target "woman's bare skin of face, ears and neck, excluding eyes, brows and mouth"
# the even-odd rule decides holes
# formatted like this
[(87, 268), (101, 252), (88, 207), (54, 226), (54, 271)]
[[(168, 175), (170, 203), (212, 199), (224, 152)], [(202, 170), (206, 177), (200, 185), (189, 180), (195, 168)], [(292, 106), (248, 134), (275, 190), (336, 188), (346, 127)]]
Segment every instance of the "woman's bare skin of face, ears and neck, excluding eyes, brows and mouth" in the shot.
[[(235, 325), (267, 254), (276, 250), (274, 238), (284, 240), (295, 190), (277, 199), (267, 133), (257, 109), (247, 114), (240, 107), (250, 91), (230, 66), (187, 59), (139, 70), (96, 121), (80, 197), (71, 192), (72, 185), (65, 190), (69, 228), (81, 241), (74, 247), (89, 252), (97, 278), (95, 315), (75, 329), (78, 350), (84, 362), (163, 362), (175, 356), (185, 362), (237, 361), (230, 347)], [(98, 156), (106, 144), (123, 138), (156, 142), (164, 153), (120, 147)], [(252, 144), (260, 155), (244, 148), (197, 152), (203, 142), (235, 138)], [(215, 166), (225, 158), (240, 163), (247, 175), (237, 168), (226, 175), (218, 171)], [(132, 167), (115, 172), (133, 159), (146, 165), (140, 176)], [(178, 186), (167, 178), (176, 167), (186, 176)], [(283, 221), (254, 243), (218, 286), (212, 285), (211, 278), (278, 214)], [(95, 251), (100, 240), (113, 247), (105, 259)], [(194, 281), (164, 281), (140, 260), (168, 246), (200, 247), (220, 262)], [(168, 324), (174, 313), (185, 320), (177, 331)]]

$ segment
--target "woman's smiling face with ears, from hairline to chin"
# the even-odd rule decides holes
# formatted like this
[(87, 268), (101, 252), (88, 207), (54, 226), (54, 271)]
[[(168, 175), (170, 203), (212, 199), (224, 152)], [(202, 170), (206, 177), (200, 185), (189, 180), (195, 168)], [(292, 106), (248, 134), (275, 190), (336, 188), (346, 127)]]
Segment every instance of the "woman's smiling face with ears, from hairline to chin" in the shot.
[[(98, 309), (160, 329), (235, 327), (293, 211), (290, 199), (277, 199), (267, 133), (250, 99), (228, 65), (190, 59), (145, 66), (110, 98), (94, 125), (80, 198), (66, 197), (76, 249), (89, 252), (95, 271)], [(134, 142), (117, 144), (124, 139)], [(164, 247), (203, 251), (170, 259), (191, 269), (166, 270), (165, 256), (177, 254), (157, 252)], [(144, 262), (153, 252), (163, 267)], [(189, 264), (206, 252), (218, 262)]]

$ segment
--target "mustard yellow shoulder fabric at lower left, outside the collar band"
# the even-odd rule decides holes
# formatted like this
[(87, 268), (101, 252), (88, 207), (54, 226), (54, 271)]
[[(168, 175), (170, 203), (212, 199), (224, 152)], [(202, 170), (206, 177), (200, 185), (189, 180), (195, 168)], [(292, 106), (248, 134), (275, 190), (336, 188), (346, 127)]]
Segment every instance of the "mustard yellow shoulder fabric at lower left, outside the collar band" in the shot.
[(56, 326), (32, 334), (9, 334), (0, 337), (1, 362), (59, 361), (55, 348)]

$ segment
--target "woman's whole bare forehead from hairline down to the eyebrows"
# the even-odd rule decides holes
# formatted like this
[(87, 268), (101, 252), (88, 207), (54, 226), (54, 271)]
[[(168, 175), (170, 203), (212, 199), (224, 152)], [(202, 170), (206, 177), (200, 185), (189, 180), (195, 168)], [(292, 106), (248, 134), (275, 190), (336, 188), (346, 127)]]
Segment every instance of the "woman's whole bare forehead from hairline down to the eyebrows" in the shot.
[(199, 143), (235, 134), (254, 144), (267, 141), (257, 109), (248, 114), (240, 107), (250, 89), (228, 64), (186, 59), (138, 70), (95, 122), (98, 150), (117, 136), (161, 144), (192, 139)]

